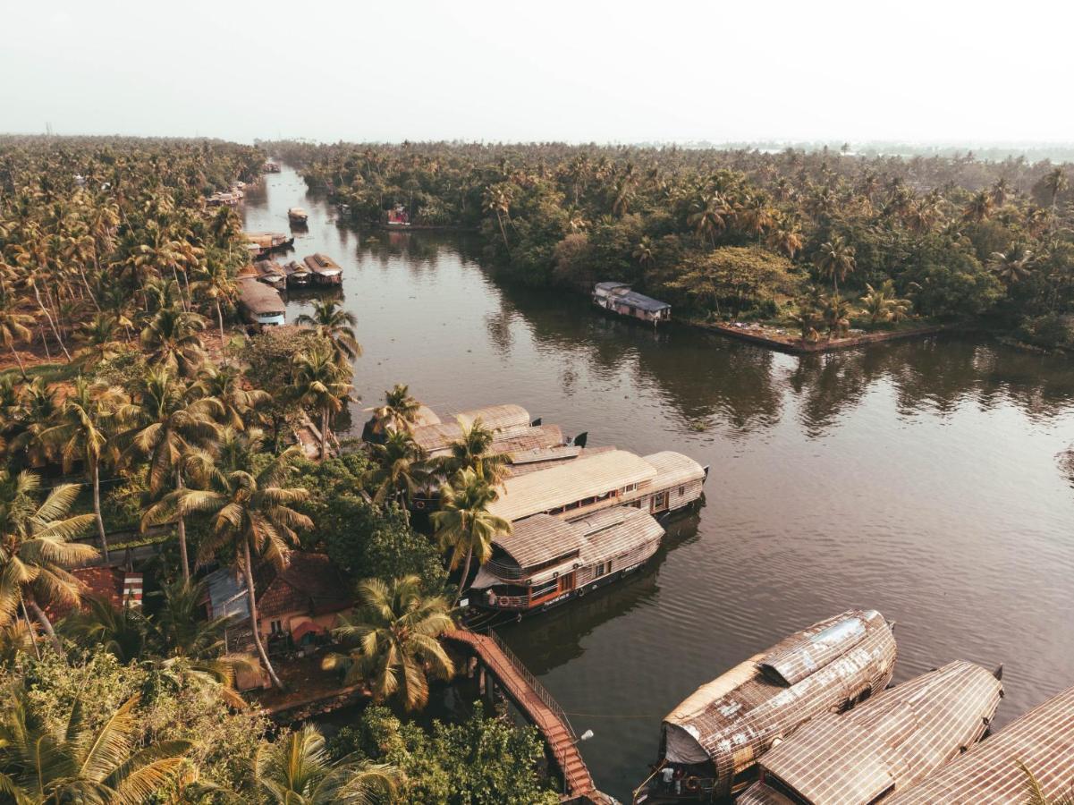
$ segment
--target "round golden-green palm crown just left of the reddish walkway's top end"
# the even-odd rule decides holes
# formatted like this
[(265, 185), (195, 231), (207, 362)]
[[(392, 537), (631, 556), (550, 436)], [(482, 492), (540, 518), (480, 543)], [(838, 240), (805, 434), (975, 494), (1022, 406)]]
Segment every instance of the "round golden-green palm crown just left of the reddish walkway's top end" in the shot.
[(329, 655), (322, 667), (345, 669), (346, 679), (369, 684), (373, 701), (398, 696), (408, 710), (429, 701), (429, 679), (450, 679), (454, 664), (437, 637), (454, 627), (442, 595), (422, 594), (418, 576), (390, 585), (368, 578), (358, 585), (359, 606), (333, 633), (353, 642), (348, 657)]

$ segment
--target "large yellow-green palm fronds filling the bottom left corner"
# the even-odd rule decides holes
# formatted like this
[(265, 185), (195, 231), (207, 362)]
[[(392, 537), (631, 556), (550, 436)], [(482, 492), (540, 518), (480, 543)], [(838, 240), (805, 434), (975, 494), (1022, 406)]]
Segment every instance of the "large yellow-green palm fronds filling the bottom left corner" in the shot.
[(156, 802), (186, 764), (191, 744), (161, 741), (140, 748), (139, 701), (127, 700), (95, 731), (81, 700), (49, 725), (25, 689), (10, 692), (0, 717), (0, 789), (27, 805)]

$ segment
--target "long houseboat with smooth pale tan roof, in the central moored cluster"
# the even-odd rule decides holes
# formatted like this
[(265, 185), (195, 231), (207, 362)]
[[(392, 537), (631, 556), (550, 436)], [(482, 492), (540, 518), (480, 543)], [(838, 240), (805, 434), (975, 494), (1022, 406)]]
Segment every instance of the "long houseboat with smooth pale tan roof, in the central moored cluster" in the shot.
[(700, 500), (707, 475), (681, 452), (611, 449), (507, 478), (489, 512), (512, 522), (536, 514), (577, 520), (623, 505), (661, 516)]

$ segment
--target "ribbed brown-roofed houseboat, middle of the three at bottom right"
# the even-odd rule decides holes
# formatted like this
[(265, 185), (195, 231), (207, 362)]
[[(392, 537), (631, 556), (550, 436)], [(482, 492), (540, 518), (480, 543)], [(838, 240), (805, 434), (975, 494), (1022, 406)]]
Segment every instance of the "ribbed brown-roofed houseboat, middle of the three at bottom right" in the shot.
[(1003, 695), (999, 672), (952, 662), (847, 713), (802, 724), (757, 763), (738, 805), (869, 805), (974, 746)]

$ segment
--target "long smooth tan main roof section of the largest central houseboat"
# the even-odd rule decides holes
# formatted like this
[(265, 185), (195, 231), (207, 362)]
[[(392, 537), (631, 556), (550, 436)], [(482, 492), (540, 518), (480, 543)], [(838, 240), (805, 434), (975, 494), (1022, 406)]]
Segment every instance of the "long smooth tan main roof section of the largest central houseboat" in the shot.
[(520, 520), (585, 498), (656, 477), (656, 468), (626, 450), (610, 450), (556, 466), (507, 478), (489, 511), (497, 517)]

